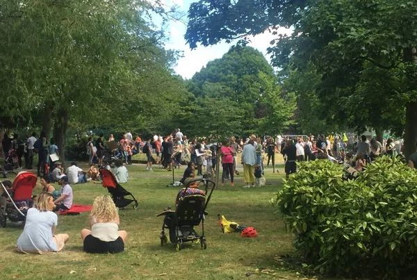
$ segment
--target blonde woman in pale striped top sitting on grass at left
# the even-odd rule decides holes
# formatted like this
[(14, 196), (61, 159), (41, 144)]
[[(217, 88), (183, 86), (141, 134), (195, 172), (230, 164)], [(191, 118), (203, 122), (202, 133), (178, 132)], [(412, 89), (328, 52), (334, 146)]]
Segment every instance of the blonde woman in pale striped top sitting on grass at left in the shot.
[(35, 199), (35, 207), (29, 208), (26, 224), (17, 240), (16, 249), (25, 254), (48, 254), (60, 252), (70, 236), (56, 234), (58, 216), (52, 212), (54, 199), (49, 192), (41, 192)]

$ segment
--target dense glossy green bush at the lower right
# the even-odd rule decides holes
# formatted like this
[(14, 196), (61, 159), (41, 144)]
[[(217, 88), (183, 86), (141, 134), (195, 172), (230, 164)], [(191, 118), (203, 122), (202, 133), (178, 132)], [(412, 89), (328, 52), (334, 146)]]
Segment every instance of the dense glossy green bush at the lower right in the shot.
[(398, 277), (416, 261), (417, 173), (395, 158), (355, 181), (329, 160), (300, 164), (275, 201), (311, 270)]

